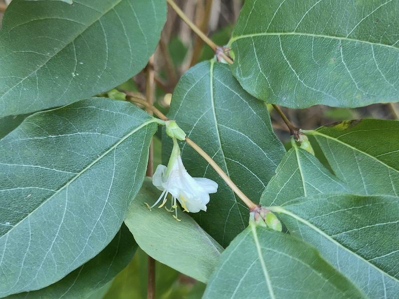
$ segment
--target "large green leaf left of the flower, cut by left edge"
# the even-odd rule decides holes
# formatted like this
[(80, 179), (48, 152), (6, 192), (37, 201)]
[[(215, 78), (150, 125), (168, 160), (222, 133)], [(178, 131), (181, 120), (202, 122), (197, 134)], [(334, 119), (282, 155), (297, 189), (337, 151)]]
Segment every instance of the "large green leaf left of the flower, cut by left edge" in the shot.
[(118, 232), (155, 119), (93, 98), (33, 114), (0, 141), (0, 297), (46, 287)]

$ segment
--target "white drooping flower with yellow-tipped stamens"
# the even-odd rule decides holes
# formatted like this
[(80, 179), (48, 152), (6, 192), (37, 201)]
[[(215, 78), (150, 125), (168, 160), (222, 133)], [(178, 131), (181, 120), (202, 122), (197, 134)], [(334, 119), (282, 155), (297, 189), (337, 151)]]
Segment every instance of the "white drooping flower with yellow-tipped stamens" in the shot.
[[(153, 175), (153, 184), (162, 190), (161, 196), (152, 206), (157, 205), (163, 198), (162, 207), (167, 201), (168, 193), (172, 195), (172, 208), (175, 209), (177, 219), (176, 200), (179, 200), (187, 212), (197, 213), (206, 211), (209, 193), (217, 191), (217, 183), (203, 177), (192, 177), (183, 165), (180, 149), (176, 139), (173, 139), (173, 150), (168, 167), (158, 165)], [(152, 208), (151, 207), (151, 208)]]

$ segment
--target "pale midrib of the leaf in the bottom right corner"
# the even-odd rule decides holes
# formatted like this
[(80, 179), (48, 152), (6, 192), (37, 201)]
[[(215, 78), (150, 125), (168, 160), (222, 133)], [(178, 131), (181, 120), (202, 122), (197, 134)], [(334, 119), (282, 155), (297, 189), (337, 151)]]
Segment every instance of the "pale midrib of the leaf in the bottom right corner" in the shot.
[(336, 246), (344, 249), (345, 251), (349, 252), (351, 255), (357, 257), (358, 259), (362, 260), (363, 262), (365, 262), (366, 264), (368, 264), (370, 267), (373, 267), (374, 269), (376, 269), (377, 271), (379, 271), (380, 273), (382, 273), (383, 275), (386, 275), (387, 277), (391, 278), (392, 280), (396, 281), (397, 283), (399, 283), (399, 280), (393, 276), (391, 276), (390, 274), (384, 272), (382, 269), (378, 268), (376, 265), (370, 263), (368, 260), (366, 260), (365, 258), (363, 258), (362, 256), (356, 254), (355, 252), (351, 251), (349, 248), (345, 247), (343, 244), (339, 243), (338, 241), (336, 241), (334, 238), (332, 238), (331, 236), (329, 236), (327, 233), (325, 233), (324, 231), (322, 231), (321, 229), (319, 229), (317, 226), (315, 226), (314, 224), (310, 223), (309, 221), (307, 221), (306, 219), (303, 219), (302, 217), (292, 213), (291, 211), (288, 211), (286, 209), (284, 209), (283, 207), (270, 207), (269, 208), (271, 211), (277, 212), (277, 213), (283, 213), (286, 214), (292, 218), (294, 218), (297, 221), (302, 222), (303, 224), (305, 224), (306, 226), (308, 226), (309, 228), (311, 228), (312, 230), (314, 230), (315, 232), (317, 232), (318, 234), (322, 235), (324, 238), (326, 238), (327, 240), (329, 240), (330, 242), (332, 242), (333, 244), (335, 244)]

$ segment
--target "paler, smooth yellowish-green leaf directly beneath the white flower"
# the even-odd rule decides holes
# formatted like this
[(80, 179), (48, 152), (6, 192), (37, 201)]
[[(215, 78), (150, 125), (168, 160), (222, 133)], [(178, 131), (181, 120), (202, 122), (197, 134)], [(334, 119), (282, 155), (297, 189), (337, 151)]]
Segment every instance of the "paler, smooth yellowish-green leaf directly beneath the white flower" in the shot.
[(164, 208), (151, 211), (160, 196), (150, 178), (132, 202), (125, 219), (137, 244), (148, 255), (181, 273), (206, 283), (223, 248), (186, 213), (179, 211), (177, 221)]

